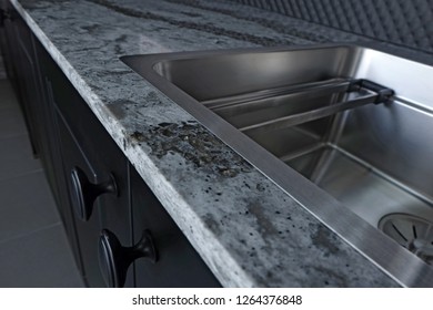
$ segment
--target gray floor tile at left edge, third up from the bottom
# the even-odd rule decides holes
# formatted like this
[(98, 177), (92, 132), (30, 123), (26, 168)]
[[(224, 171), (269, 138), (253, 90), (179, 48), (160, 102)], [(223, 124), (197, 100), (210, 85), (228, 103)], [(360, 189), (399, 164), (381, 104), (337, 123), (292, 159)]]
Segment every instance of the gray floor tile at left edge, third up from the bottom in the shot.
[(28, 135), (0, 140), (0, 180), (40, 168), (39, 159), (32, 155)]

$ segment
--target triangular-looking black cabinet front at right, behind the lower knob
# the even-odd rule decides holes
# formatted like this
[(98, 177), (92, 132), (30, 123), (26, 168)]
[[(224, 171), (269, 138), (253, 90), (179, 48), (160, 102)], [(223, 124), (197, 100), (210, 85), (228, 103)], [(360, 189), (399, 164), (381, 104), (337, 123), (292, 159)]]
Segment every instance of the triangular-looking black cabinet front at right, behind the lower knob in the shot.
[(219, 287), (220, 283), (182, 231), (131, 166), (135, 242), (149, 230), (158, 260), (135, 260), (137, 287)]

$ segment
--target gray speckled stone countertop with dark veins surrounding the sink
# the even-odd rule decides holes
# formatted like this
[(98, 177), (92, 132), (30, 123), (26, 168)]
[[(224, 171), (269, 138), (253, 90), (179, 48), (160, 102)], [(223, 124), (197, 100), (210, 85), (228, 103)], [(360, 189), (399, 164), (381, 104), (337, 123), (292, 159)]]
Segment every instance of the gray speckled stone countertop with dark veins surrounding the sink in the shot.
[(12, 2), (223, 286), (397, 286), (119, 61), (360, 38), (223, 1)]

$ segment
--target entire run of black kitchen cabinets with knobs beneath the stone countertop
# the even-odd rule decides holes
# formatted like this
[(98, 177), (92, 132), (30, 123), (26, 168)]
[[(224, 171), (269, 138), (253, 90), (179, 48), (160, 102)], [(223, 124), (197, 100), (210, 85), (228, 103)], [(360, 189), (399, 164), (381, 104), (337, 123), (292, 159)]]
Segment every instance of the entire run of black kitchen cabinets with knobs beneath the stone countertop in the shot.
[(19, 13), (0, 3), (7, 73), (85, 283), (220, 286)]

